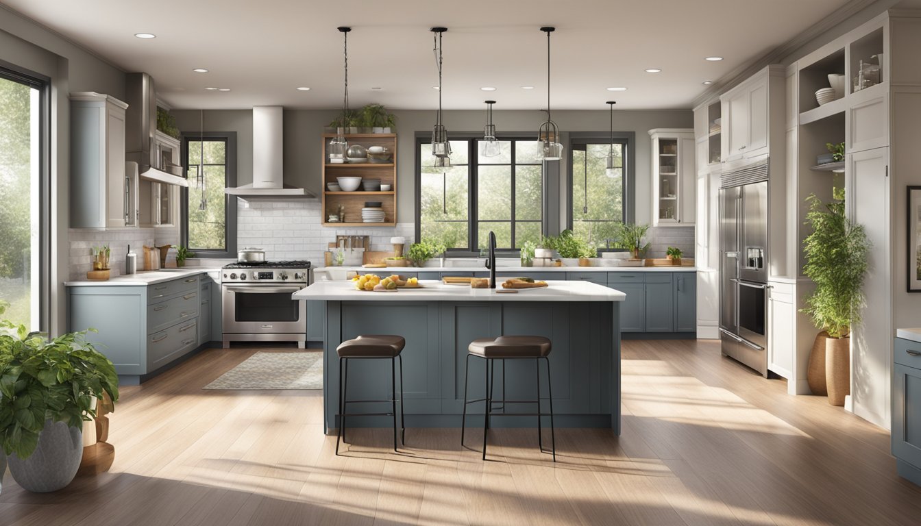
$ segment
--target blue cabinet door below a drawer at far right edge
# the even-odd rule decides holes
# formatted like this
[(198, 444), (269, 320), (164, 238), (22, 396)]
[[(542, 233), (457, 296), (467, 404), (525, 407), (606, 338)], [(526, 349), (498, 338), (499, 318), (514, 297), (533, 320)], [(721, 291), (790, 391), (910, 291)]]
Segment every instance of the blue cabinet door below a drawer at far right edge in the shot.
[(921, 466), (921, 369), (895, 366), (892, 385), (892, 454)]

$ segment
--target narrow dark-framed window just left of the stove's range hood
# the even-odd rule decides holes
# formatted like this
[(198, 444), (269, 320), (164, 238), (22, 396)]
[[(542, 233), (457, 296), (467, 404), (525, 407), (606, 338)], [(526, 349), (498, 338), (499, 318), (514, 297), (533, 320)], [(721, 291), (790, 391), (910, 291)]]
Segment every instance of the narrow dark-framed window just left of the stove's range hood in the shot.
[(224, 193), (237, 185), (236, 134), (185, 134), (189, 188), (183, 189), (184, 244), (198, 257), (236, 257), (237, 203)]

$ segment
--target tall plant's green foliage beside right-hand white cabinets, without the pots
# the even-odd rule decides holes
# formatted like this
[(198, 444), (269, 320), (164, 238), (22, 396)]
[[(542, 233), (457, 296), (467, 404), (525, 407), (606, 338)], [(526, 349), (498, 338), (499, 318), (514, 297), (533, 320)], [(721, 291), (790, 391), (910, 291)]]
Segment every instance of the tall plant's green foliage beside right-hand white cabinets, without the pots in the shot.
[(803, 273), (815, 282), (815, 292), (802, 312), (829, 336), (841, 338), (860, 321), (870, 242), (863, 226), (847, 220), (843, 188), (834, 189), (831, 203), (823, 204), (814, 194), (806, 201), (812, 233), (803, 240)]

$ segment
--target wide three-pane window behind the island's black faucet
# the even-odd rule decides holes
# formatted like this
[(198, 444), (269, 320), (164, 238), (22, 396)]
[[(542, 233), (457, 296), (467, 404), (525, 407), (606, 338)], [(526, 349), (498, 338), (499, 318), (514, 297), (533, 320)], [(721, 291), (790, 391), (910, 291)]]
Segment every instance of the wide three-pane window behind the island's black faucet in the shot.
[(543, 219), (542, 161), (534, 140), (499, 141), (499, 155), (480, 155), (475, 138), (451, 141), (451, 168), (435, 169), (431, 143), (417, 140), (417, 235), (449, 249), (486, 248), (495, 232), (499, 248), (540, 242)]

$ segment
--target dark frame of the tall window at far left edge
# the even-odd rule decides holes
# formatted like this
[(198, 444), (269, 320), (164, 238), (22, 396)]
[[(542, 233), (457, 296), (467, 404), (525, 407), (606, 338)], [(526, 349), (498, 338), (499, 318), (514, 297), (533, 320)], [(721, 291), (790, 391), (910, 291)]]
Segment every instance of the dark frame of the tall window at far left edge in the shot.
[[(0, 77), (29, 86), (39, 91), (39, 275), (32, 275), (38, 281), (38, 330), (51, 331), (51, 266), (52, 266), (52, 138), (51, 98), (52, 79), (16, 64), (0, 60)], [(33, 285), (34, 286), (34, 285)], [(29, 306), (31, 309), (31, 306)], [(33, 321), (33, 326), (35, 325)], [(31, 327), (29, 328), (31, 329)]]

